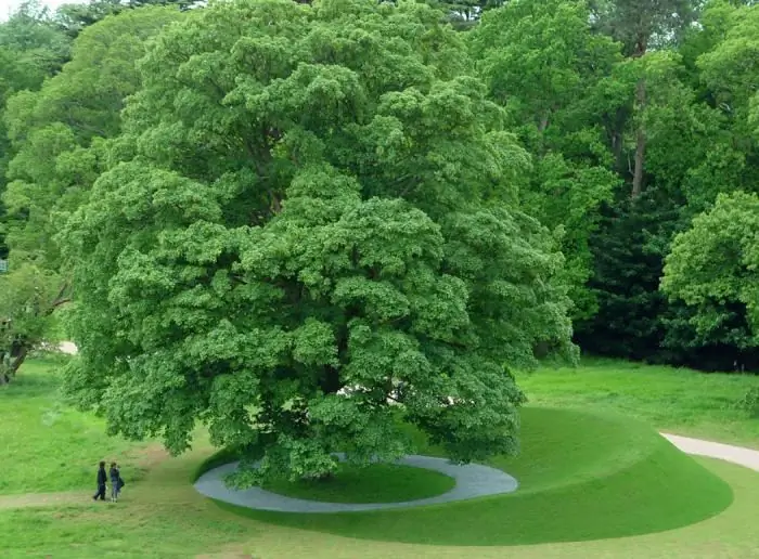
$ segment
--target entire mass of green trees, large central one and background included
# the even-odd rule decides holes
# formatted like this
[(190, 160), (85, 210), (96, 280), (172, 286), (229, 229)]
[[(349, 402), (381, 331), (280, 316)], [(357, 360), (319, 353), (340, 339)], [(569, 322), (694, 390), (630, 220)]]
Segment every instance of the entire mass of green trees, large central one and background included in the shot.
[(398, 455), (388, 399), (512, 452), (509, 369), (577, 346), (757, 370), (751, 4), (24, 4), (0, 376), (65, 312), (114, 432), (181, 452), (205, 418), (266, 474)]

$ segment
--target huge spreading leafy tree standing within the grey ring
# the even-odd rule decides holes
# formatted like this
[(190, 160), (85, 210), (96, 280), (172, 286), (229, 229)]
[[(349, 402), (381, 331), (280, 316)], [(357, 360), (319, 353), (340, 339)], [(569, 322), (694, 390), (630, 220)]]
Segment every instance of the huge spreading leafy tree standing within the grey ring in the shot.
[(173, 453), (204, 421), (261, 459), (241, 482), (398, 457), (399, 417), (456, 460), (514, 452), (510, 367), (574, 354), (568, 299), (460, 36), (412, 2), (186, 17), (64, 233), (70, 392)]

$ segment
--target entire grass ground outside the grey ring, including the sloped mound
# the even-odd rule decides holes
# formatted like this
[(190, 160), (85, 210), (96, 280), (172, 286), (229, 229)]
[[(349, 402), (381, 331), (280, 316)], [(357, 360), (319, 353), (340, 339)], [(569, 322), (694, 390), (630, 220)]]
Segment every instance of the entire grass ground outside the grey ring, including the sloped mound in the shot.
[[(137, 464), (145, 446), (108, 442), (100, 421), (82, 414), (67, 410), (59, 410), (57, 416), (48, 414), (57, 402), (57, 381), (50, 378), (53, 368), (50, 363), (31, 363), (17, 385), (0, 391), (3, 419), (11, 414), (15, 418), (12, 428), (8, 421), (0, 424), (1, 447), (38, 457), (44, 474), (27, 476), (25, 464), (3, 453), (0, 479), (5, 493), (82, 486), (81, 499), (9, 509), (0, 496), (3, 558), (747, 559), (759, 549), (759, 535), (750, 521), (759, 502), (759, 474), (719, 460), (691, 460), (641, 424), (604, 415), (622, 412), (656, 428), (700, 432), (712, 439), (726, 433), (722, 440), (741, 441), (756, 432), (756, 419), (722, 404), (756, 379), (720, 375), (704, 379), (684, 370), (597, 362), (569, 374), (539, 372), (520, 378), (532, 405), (580, 407), (602, 415), (526, 408), (525, 452), (517, 458), (493, 460), (519, 479), (519, 492), (400, 514), (298, 518), (240, 514), (197, 494), (191, 480), (213, 453), (203, 441), (180, 458), (154, 460), (143, 479), (127, 485), (120, 503), (91, 503), (89, 465), (101, 455), (125, 463), (134, 456)], [(607, 379), (601, 378), (602, 370), (608, 373)], [(608, 392), (619, 395), (609, 398)], [(715, 405), (716, 398), (722, 404)], [(666, 413), (656, 413), (657, 400), (669, 402)], [(43, 418), (50, 415), (55, 421), (46, 424)], [(67, 418), (65, 428), (61, 417)], [(27, 437), (20, 440), (12, 432)], [(60, 464), (81, 464), (83, 476), (64, 472), (56, 484), (47, 485)], [(608, 498), (613, 494), (617, 498)], [(716, 514), (724, 506), (724, 511)], [(447, 507), (452, 514), (445, 512)], [(698, 518), (705, 520), (683, 525)], [(673, 529), (660, 531), (662, 521)], [(649, 530), (659, 531), (642, 533)], [(639, 535), (589, 540), (623, 534)], [(514, 545), (539, 537), (554, 543)], [(462, 544), (485, 546), (473, 550), (459, 547)]]

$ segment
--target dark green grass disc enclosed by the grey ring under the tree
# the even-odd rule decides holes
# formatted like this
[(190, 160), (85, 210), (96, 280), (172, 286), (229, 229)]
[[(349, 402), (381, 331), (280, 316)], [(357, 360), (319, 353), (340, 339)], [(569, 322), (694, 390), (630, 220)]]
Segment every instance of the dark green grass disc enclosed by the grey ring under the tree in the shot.
[(340, 464), (327, 480), (273, 480), (263, 489), (288, 497), (326, 503), (398, 503), (434, 497), (453, 489), (455, 480), (439, 471), (395, 464), (357, 468)]

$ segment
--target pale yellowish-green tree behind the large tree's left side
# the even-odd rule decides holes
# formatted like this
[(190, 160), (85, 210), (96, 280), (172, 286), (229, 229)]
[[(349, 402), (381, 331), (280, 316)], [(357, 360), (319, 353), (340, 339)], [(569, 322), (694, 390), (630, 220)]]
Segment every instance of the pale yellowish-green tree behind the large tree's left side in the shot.
[(140, 83), (134, 61), (147, 39), (179, 17), (165, 9), (111, 16), (74, 42), (72, 61), (39, 91), (8, 101), (5, 123), (14, 153), (2, 195), (10, 270), (0, 287), (9, 297), (0, 353), (12, 355), (12, 376), (47, 333), (55, 309), (68, 301), (55, 235), (102, 171), (106, 139), (120, 130), (124, 99)]

